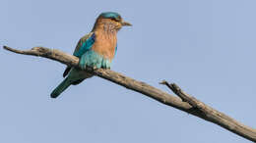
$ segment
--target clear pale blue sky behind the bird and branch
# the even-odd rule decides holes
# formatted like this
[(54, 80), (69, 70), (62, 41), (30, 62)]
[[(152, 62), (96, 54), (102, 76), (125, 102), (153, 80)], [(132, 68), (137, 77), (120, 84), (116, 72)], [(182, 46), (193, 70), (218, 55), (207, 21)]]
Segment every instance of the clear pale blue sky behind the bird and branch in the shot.
[[(96, 17), (114, 11), (112, 65), (166, 92), (175, 82), (213, 108), (256, 128), (255, 0), (1, 0), (0, 44), (72, 53)], [(93, 77), (60, 98), (49, 94), (65, 65), (0, 50), (2, 143), (246, 143), (224, 128)]]

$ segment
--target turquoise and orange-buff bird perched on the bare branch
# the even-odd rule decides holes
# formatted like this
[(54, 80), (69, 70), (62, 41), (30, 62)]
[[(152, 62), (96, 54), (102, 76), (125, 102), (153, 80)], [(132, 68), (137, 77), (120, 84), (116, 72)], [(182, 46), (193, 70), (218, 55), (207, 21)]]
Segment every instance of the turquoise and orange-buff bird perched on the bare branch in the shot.
[(83, 36), (73, 53), (79, 58), (79, 68), (67, 67), (63, 72), (64, 80), (51, 92), (51, 98), (57, 98), (70, 85), (77, 85), (93, 76), (85, 72), (93, 69), (110, 69), (117, 51), (117, 32), (123, 26), (131, 26), (116, 12), (103, 12), (96, 18), (91, 32)]

